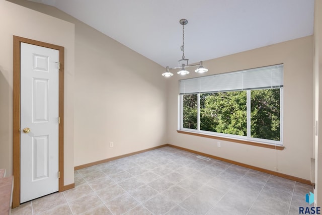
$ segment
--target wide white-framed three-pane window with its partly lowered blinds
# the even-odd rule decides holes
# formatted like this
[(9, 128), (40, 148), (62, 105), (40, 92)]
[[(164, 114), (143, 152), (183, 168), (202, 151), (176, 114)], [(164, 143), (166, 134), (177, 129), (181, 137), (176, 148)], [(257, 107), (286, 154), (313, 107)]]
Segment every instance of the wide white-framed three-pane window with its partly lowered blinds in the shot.
[(283, 64), (180, 81), (180, 129), (282, 145)]

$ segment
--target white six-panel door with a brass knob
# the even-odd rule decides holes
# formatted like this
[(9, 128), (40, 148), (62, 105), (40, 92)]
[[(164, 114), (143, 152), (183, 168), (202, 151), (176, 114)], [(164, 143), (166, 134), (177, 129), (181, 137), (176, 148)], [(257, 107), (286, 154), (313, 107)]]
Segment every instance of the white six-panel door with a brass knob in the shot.
[(21, 203), (58, 191), (58, 58), (21, 43)]

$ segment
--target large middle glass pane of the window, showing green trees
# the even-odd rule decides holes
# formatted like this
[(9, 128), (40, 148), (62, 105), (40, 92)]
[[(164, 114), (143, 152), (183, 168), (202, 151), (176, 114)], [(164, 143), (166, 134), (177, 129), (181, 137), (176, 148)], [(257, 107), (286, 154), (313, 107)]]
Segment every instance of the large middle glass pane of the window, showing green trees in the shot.
[(247, 136), (246, 91), (200, 94), (200, 130)]

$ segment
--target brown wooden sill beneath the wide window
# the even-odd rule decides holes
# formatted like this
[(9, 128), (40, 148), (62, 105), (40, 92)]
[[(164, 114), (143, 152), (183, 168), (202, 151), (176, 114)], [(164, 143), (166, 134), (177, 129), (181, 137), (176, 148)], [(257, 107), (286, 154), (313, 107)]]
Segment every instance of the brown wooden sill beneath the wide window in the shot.
[(242, 139), (233, 139), (233, 138), (228, 138), (228, 137), (223, 137), (223, 136), (215, 136), (215, 135), (204, 134), (204, 133), (195, 133), (195, 132), (191, 132), (191, 131), (177, 130), (177, 132), (183, 133), (183, 134), (194, 135), (194, 136), (202, 136), (202, 137), (206, 137), (206, 138), (220, 139), (220, 140), (230, 141), (230, 142), (237, 142), (238, 144), (246, 144), (246, 145), (251, 145), (251, 146), (256, 146), (256, 147), (264, 147), (264, 148), (269, 148), (269, 149), (274, 149), (274, 150), (284, 150), (284, 148), (285, 148), (282, 146), (262, 144), (261, 142), (253, 142), (253, 141), (242, 140)]

